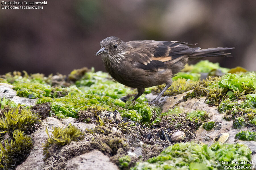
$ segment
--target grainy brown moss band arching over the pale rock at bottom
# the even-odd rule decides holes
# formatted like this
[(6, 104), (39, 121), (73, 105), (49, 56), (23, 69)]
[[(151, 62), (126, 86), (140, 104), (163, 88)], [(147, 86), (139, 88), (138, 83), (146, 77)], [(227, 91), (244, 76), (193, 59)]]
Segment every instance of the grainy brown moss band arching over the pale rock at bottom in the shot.
[(110, 157), (112, 162), (118, 163), (120, 157), (127, 155), (129, 149), (129, 145), (126, 142), (127, 140), (118, 132), (109, 131), (108, 133), (101, 133), (102, 131), (99, 131), (100, 128), (105, 130), (104, 127), (96, 127), (92, 129), (100, 134), (86, 131), (84, 140), (77, 142), (71, 141), (63, 147), (52, 145), (48, 149), (48, 157), (45, 159), (45, 164), (42, 169), (64, 169), (69, 159), (94, 149), (97, 149)]

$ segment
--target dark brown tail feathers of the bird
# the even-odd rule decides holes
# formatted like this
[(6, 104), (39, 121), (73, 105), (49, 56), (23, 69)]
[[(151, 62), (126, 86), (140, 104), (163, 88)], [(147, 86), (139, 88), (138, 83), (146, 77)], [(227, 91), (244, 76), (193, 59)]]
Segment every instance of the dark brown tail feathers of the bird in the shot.
[(188, 57), (189, 59), (193, 58), (204, 58), (204, 57), (232, 57), (230, 53), (226, 53), (224, 51), (231, 50), (233, 48), (223, 48), (223, 47), (217, 47), (217, 48), (208, 48), (208, 49), (201, 49), (199, 47), (193, 48), (194, 53), (190, 54)]

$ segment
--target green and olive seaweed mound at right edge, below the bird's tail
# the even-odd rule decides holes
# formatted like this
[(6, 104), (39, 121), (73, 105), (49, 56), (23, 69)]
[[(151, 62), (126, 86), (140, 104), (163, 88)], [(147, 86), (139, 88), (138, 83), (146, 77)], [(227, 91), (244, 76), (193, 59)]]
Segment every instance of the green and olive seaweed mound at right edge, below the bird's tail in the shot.
[[(256, 73), (246, 72), (239, 74), (226, 73), (220, 78), (209, 78), (202, 80), (195, 85), (193, 92), (183, 98), (186, 101), (192, 97), (206, 96), (205, 103), (218, 106), (222, 101), (229, 98), (232, 100), (246, 99), (253, 100), (256, 87)], [(251, 108), (253, 104), (247, 102)]]

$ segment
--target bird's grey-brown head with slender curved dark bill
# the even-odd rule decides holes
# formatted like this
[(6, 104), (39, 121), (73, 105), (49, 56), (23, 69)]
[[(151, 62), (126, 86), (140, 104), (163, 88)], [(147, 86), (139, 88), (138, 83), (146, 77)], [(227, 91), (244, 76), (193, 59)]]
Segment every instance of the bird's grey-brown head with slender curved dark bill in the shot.
[(107, 37), (100, 41), (100, 50), (96, 56), (100, 54), (109, 54), (110, 56), (118, 56), (127, 47), (127, 44), (117, 37)]

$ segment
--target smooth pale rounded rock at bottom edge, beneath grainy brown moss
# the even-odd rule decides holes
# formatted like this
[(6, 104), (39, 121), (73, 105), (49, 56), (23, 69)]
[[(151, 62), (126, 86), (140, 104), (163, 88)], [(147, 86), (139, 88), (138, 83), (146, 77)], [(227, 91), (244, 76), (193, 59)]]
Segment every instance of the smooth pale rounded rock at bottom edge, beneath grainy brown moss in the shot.
[(79, 156), (76, 156), (67, 162), (67, 170), (119, 170), (117, 165), (110, 162), (108, 156), (98, 150), (92, 150)]

